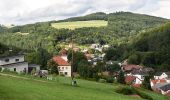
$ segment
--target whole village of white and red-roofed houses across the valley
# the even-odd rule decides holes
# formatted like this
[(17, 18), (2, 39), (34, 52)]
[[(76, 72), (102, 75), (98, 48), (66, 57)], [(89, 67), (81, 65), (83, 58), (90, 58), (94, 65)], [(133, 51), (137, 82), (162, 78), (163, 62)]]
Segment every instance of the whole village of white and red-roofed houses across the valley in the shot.
[[(108, 49), (109, 45), (92, 44), (88, 48), (80, 49), (76, 44), (69, 44), (66, 48), (62, 48), (59, 55), (55, 55), (51, 58), (58, 66), (58, 73), (60, 76), (72, 77), (72, 75), (79, 76), (79, 73), (73, 72), (71, 68), (71, 62), (68, 61), (68, 50), (73, 48), (74, 52), (82, 52), (87, 58), (88, 62), (92, 66), (96, 66), (98, 62), (104, 62), (105, 53), (104, 49)], [(89, 53), (89, 49), (93, 49), (93, 53)], [(97, 52), (97, 53), (96, 53)], [(100, 52), (100, 53), (99, 53)], [(76, 62), (76, 61), (75, 61)], [(105, 64), (113, 65), (114, 61), (107, 61)], [(140, 88), (146, 76), (153, 75), (152, 79), (149, 79), (151, 89), (162, 95), (170, 96), (170, 72), (155, 72), (155, 70), (148, 66), (141, 66), (135, 64), (128, 64), (125, 59), (122, 62), (117, 62), (120, 70), (110, 72), (109, 70), (102, 71), (102, 76), (112, 76), (116, 80), (120, 71), (124, 72), (125, 84)], [(104, 65), (105, 66), (105, 65)], [(40, 65), (30, 64), (25, 61), (24, 54), (17, 54), (15, 56), (6, 56), (0, 58), (1, 72), (6, 70), (16, 73), (28, 73), (38, 75), (40, 77), (45, 76), (48, 80), (52, 80), (49, 70), (41, 70)]]

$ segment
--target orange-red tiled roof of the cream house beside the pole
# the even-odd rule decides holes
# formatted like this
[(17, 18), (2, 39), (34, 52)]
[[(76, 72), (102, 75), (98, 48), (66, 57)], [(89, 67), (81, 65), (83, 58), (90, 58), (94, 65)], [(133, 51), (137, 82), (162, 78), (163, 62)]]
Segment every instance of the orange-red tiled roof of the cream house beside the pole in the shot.
[(53, 60), (59, 65), (59, 66), (69, 66), (70, 64), (65, 61), (63, 58), (60, 56), (55, 56), (53, 57)]

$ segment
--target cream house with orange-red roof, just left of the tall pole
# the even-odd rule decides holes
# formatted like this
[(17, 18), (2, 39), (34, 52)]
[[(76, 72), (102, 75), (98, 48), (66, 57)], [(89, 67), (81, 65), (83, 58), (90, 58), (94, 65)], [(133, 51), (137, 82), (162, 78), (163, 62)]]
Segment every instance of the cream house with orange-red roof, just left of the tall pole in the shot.
[(54, 56), (53, 60), (58, 64), (59, 75), (71, 77), (71, 64), (61, 56)]

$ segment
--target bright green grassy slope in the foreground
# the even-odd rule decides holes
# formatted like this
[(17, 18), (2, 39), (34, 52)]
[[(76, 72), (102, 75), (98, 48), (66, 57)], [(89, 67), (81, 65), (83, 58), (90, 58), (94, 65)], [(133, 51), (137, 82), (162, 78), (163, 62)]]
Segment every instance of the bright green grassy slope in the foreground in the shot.
[[(142, 100), (114, 92), (120, 85), (77, 79), (78, 86), (73, 87), (70, 82), (64, 77), (41, 82), (0, 75), (0, 100)], [(148, 94), (154, 100), (168, 100), (153, 92)]]

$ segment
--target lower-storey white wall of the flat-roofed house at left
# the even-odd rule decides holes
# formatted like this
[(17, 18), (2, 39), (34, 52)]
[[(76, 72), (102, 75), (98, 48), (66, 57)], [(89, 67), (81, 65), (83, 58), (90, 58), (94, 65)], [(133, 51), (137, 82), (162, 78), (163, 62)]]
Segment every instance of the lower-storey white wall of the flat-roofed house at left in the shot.
[(12, 65), (5, 65), (2, 67), (3, 67), (3, 69), (7, 68), (10, 71), (14, 71), (14, 68), (16, 68), (16, 72), (18, 72), (18, 73), (23, 72), (24, 69), (26, 69), (26, 72), (28, 71), (28, 63), (27, 62), (12, 64)]

